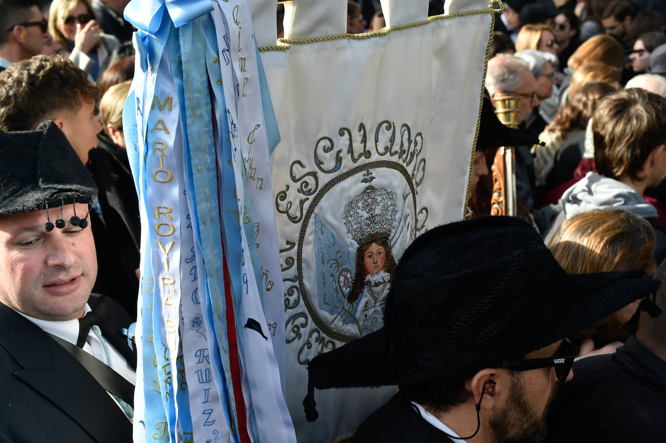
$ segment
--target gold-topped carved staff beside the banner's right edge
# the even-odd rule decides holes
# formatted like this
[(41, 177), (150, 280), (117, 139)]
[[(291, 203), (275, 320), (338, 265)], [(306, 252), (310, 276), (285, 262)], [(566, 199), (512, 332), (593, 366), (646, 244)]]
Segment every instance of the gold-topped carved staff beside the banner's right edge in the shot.
[[(500, 122), (509, 128), (518, 127), (519, 94), (498, 93), (495, 99), (495, 113)], [(502, 146), (498, 149), (492, 165), (493, 194), (490, 199), (492, 215), (516, 215), (515, 192), (515, 147)]]

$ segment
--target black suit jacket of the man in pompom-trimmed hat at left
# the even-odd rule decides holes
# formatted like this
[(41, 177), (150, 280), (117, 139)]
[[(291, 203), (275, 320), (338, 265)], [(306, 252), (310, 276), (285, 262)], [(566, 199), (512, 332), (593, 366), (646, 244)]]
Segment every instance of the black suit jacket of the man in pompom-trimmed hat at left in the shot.
[[(132, 321), (109, 300), (109, 318), (99, 327), (136, 368), (136, 352), (121, 332)], [(132, 442), (132, 424), (95, 378), (39, 326), (2, 303), (0, 442)]]

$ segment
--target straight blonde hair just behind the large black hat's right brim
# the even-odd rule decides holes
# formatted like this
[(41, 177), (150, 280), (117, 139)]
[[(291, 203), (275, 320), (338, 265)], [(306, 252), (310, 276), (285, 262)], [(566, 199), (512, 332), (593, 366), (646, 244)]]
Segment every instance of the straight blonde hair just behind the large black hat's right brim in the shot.
[[(655, 232), (649, 222), (619, 209), (589, 211), (565, 220), (548, 247), (567, 274), (643, 268), (653, 272)], [(619, 314), (585, 328), (576, 336), (615, 341), (626, 338)]]

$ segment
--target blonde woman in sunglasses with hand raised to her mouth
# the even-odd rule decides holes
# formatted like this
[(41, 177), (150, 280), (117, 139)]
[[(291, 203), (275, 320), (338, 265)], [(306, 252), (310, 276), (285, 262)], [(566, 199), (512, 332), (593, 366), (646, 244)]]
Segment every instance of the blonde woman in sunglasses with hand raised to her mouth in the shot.
[(49, 8), (49, 31), (75, 65), (98, 81), (120, 42), (97, 23), (87, 0), (54, 0)]

